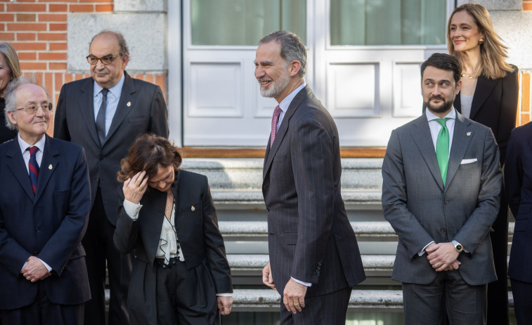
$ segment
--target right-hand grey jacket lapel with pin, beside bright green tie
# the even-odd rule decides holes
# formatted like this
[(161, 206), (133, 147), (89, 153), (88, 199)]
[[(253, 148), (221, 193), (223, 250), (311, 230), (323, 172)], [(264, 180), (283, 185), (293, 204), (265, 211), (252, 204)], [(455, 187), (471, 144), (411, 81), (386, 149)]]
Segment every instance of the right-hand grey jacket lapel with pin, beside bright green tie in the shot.
[(467, 147), (469, 147), (469, 142), (471, 142), (471, 139), (474, 136), (472, 131), (468, 130), (470, 125), (471, 121), (466, 119), (462, 114), (456, 114), (455, 131), (453, 132), (453, 144), (450, 146), (449, 164), (447, 167), (446, 190), (453, 181), (453, 178), (458, 171), (458, 167), (460, 167), (460, 163), (465, 157), (465, 152)]

